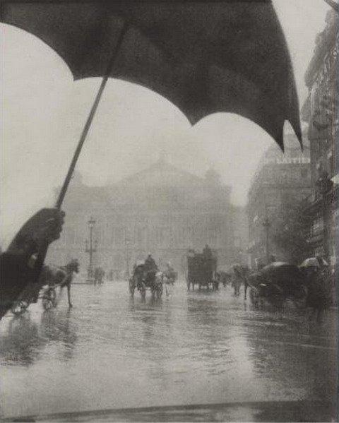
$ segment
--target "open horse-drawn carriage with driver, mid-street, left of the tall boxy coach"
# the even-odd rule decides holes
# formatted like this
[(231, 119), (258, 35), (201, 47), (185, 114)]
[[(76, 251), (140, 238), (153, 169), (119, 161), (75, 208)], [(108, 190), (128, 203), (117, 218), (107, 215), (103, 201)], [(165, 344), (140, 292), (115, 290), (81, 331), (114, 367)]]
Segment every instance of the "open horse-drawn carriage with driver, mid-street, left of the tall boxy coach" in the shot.
[(152, 297), (160, 299), (162, 296), (162, 273), (156, 270), (147, 270), (145, 264), (139, 264), (129, 278), (129, 292), (132, 297), (135, 290), (140, 292), (143, 299), (145, 299), (146, 290), (150, 290)]

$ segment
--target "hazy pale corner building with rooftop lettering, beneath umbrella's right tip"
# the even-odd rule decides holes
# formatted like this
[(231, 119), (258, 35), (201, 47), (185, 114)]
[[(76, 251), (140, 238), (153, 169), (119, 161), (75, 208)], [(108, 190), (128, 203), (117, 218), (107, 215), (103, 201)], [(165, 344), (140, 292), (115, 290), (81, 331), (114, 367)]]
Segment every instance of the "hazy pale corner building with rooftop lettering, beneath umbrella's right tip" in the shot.
[(288, 251), (274, 242), (282, 210), (311, 193), (309, 144), (302, 152), (295, 135), (285, 136), (285, 153), (277, 145), (266, 150), (256, 169), (248, 193), (249, 261), (252, 267), (273, 255), (290, 260)]

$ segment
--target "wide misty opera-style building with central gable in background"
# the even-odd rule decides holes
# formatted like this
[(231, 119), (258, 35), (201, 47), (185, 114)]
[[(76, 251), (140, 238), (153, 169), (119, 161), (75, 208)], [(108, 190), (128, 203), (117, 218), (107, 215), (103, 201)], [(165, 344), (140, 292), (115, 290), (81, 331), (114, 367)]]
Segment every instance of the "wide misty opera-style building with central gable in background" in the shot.
[(85, 269), (88, 220), (97, 242), (94, 266), (131, 270), (150, 252), (160, 266), (167, 261), (184, 270), (188, 249), (209, 244), (220, 264), (234, 261), (230, 186), (209, 169), (204, 178), (159, 160), (117, 184), (91, 187), (77, 175), (64, 203), (66, 222), (52, 244), (49, 261), (77, 257)]

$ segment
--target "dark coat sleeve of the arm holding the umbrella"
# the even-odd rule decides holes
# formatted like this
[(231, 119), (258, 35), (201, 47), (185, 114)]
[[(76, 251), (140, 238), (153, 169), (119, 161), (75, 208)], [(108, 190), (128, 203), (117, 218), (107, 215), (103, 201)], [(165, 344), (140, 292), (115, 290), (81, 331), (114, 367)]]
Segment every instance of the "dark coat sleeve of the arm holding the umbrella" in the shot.
[(11, 309), (28, 283), (33, 280), (33, 270), (27, 258), (4, 253), (0, 256), (0, 318)]

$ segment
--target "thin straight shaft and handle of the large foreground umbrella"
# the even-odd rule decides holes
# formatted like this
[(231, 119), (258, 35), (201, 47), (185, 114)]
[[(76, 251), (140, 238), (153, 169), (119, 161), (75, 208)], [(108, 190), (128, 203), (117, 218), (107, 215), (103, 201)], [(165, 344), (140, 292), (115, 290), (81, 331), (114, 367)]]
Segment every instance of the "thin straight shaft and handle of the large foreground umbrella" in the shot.
[[(81, 153), (81, 149), (83, 148), (83, 143), (85, 143), (85, 139), (86, 136), (88, 134), (88, 131), (90, 129), (90, 125), (92, 124), (93, 118), (95, 116), (95, 112), (97, 111), (97, 106), (100, 103), (100, 99), (102, 97), (102, 93), (105, 89), (106, 83), (108, 81), (109, 75), (112, 73), (112, 69), (114, 66), (114, 61), (117, 57), (117, 53), (119, 52), (119, 48), (124, 40), (124, 35), (126, 34), (126, 31), (129, 28), (129, 23), (127, 22), (127, 20), (124, 21), (124, 25), (121, 28), (121, 32), (119, 35), (119, 39), (117, 40), (117, 44), (114, 48), (114, 51), (112, 52), (112, 56), (109, 58), (109, 62), (107, 64), (107, 69), (106, 69), (106, 73), (105, 76), (102, 78), (99, 90), (97, 90), (97, 95), (95, 96), (95, 100), (93, 102), (93, 106), (90, 109), (90, 113), (88, 114), (88, 118), (86, 120), (85, 126), (83, 127), (83, 131), (81, 133), (81, 137), (78, 141), (78, 145), (76, 147), (76, 150), (73, 154), (73, 158), (71, 161), (71, 165), (69, 165), (69, 170), (66, 174), (66, 178), (64, 180), (64, 184), (61, 187), (59, 196), (57, 198), (57, 202), (55, 203), (55, 207), (60, 209), (61, 205), (64, 201), (67, 189), (69, 188), (69, 183), (71, 181), (74, 169), (76, 168), (76, 162), (78, 161), (79, 155)], [(37, 261), (35, 261), (35, 274), (34, 274), (34, 278), (35, 278), (35, 282), (37, 282), (37, 278), (39, 278), (42, 266), (44, 265), (44, 259), (46, 258), (47, 255), (47, 250), (48, 250), (48, 242), (45, 242), (38, 254), (37, 254)]]

